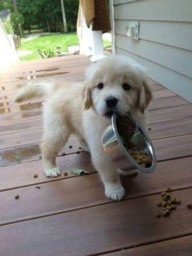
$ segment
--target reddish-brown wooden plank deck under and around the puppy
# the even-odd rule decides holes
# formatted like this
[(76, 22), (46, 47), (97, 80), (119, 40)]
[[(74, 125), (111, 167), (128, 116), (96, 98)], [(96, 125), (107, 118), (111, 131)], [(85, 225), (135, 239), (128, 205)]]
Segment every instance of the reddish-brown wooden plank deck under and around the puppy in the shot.
[[(150, 81), (155, 99), (148, 128), (157, 169), (123, 177), (124, 201), (107, 200), (75, 137), (57, 157), (68, 175), (48, 179), (42, 174), (42, 101), (15, 104), (15, 90), (33, 78), (82, 80), (88, 64), (88, 58), (75, 55), (0, 73), (0, 254), (192, 255), (192, 210), (187, 209), (192, 204), (192, 104), (163, 86)], [(76, 176), (71, 169), (90, 174)], [(167, 188), (181, 205), (169, 217), (155, 218), (160, 192)]]

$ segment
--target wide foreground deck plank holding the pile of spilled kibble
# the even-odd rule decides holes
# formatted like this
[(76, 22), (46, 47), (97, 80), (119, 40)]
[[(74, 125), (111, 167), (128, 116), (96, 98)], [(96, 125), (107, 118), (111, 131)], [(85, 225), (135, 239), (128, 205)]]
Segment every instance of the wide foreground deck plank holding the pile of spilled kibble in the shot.
[(188, 235), (192, 232), (192, 221), (186, 205), (192, 200), (192, 188), (174, 192), (174, 196), (182, 203), (170, 218), (155, 218), (157, 195), (2, 226), (1, 253), (101, 254)]

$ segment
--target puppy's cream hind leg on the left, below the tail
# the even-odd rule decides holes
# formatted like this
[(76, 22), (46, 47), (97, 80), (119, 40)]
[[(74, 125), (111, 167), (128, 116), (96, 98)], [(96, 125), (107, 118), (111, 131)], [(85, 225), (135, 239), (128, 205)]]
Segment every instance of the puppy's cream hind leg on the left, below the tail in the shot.
[(61, 174), (56, 166), (56, 156), (64, 144), (68, 141), (70, 130), (68, 126), (54, 121), (46, 125), (43, 142), (41, 143), (41, 152), (44, 173), (47, 177), (57, 177)]

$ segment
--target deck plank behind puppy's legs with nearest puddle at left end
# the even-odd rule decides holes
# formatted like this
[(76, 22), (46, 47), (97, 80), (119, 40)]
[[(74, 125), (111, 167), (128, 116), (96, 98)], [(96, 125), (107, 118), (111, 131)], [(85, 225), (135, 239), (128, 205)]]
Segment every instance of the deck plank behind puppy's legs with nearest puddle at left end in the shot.
[[(157, 136), (158, 133), (159, 135), (162, 135), (161, 130), (159, 130), (160, 127), (162, 126), (159, 126), (156, 130)], [(151, 130), (151, 132), (153, 132), (153, 130)], [(177, 134), (180, 133), (180, 126), (178, 127), (178, 130), (176, 127), (175, 132)], [(153, 136), (155, 136), (155, 132)], [(152, 139), (152, 142), (155, 147), (157, 161), (164, 161), (177, 157), (189, 157), (192, 155), (192, 133), (165, 139)], [(72, 148), (70, 146), (72, 146)], [(76, 137), (71, 136), (63, 150), (59, 152), (58, 156), (61, 156), (63, 152), (65, 154), (78, 152), (80, 148), (81, 145), (78, 143)], [(41, 157), (41, 152), (38, 143), (34, 143), (12, 148), (2, 148), (0, 149), (0, 156), (0, 166), (7, 166), (21, 161), (37, 160)], [(18, 161), (18, 157), (20, 158), (20, 161)]]

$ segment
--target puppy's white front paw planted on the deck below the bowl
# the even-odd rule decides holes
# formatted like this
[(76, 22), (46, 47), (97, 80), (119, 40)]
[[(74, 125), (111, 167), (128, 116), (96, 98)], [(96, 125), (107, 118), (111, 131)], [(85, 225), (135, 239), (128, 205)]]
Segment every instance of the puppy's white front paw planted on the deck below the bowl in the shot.
[(111, 200), (120, 201), (125, 194), (125, 190), (121, 185), (107, 185), (105, 188), (105, 194), (106, 196)]

